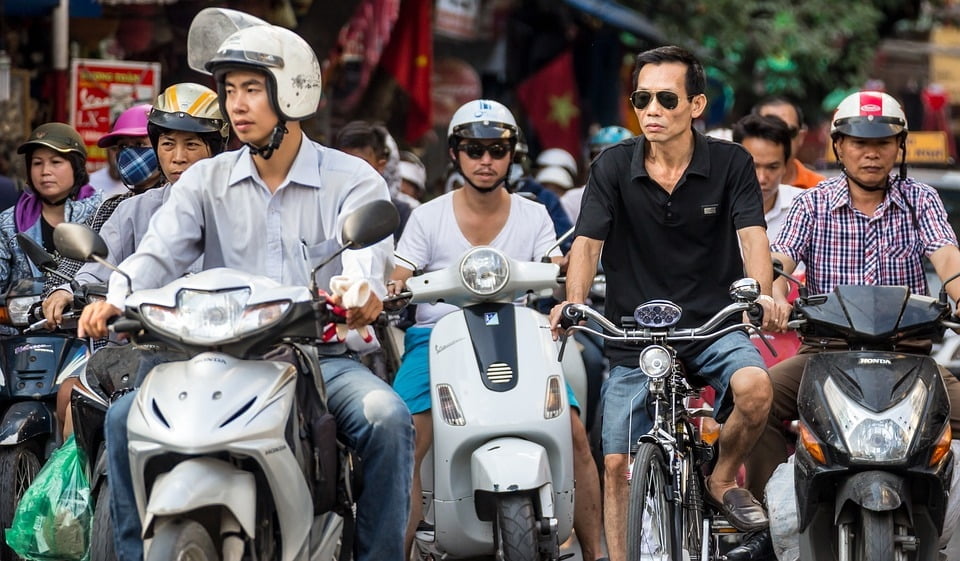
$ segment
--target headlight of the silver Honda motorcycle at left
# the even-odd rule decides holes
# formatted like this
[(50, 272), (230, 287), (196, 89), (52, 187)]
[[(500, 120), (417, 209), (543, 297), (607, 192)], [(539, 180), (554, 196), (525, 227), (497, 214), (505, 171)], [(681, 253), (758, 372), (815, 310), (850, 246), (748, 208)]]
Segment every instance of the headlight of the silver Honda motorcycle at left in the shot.
[(143, 304), (144, 323), (199, 344), (229, 341), (270, 326), (290, 309), (289, 300), (247, 305), (250, 289), (181, 290), (173, 308)]

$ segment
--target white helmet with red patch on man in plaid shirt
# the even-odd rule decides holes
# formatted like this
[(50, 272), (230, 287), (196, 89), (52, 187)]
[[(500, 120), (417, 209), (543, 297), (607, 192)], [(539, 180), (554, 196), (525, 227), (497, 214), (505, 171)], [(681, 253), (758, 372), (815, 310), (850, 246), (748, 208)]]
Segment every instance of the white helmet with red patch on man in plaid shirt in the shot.
[[(852, 136), (855, 138), (899, 137), (901, 159), (900, 180), (907, 176), (906, 143), (907, 116), (893, 96), (884, 92), (862, 91), (848, 95), (837, 106), (830, 123), (830, 138), (833, 139), (833, 153), (837, 161), (837, 138)], [(841, 163), (841, 169), (843, 165)]]

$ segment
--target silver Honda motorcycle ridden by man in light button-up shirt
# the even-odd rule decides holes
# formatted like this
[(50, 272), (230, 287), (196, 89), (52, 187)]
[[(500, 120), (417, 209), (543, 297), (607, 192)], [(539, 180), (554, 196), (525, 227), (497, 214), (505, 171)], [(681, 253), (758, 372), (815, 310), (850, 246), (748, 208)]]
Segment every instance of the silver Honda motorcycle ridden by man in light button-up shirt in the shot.
[[(314, 278), (396, 222), (387, 201), (356, 209)], [(89, 229), (61, 224), (54, 237), (64, 255), (106, 263)], [(336, 441), (317, 357), (301, 344), (335, 320), (320, 298), (315, 282), (223, 268), (128, 296), (114, 331), (190, 356), (150, 370), (128, 418), (147, 561), (351, 558), (355, 458)]]

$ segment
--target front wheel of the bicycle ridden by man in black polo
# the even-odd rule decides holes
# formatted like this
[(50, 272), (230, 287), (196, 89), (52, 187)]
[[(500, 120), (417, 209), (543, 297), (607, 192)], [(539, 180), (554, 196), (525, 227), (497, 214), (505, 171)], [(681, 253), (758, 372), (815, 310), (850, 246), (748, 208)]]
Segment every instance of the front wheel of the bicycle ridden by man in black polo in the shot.
[(640, 443), (633, 460), (627, 507), (627, 561), (671, 559), (674, 515), (670, 479), (663, 451)]

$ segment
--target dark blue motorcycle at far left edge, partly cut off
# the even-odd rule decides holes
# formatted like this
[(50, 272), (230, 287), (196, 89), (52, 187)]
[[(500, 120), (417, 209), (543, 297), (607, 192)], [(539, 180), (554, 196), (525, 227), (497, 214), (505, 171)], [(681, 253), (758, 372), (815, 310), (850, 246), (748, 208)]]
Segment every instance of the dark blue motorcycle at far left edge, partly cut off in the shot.
[[(42, 271), (56, 261), (35, 242), (20, 246)], [(31, 245), (32, 244), (32, 245)], [(0, 297), (0, 527), (13, 523), (17, 504), (60, 444), (55, 419), (60, 381), (82, 369), (87, 348), (68, 333), (36, 332), (43, 279), (22, 279)], [(6, 545), (0, 561), (18, 559)]]

